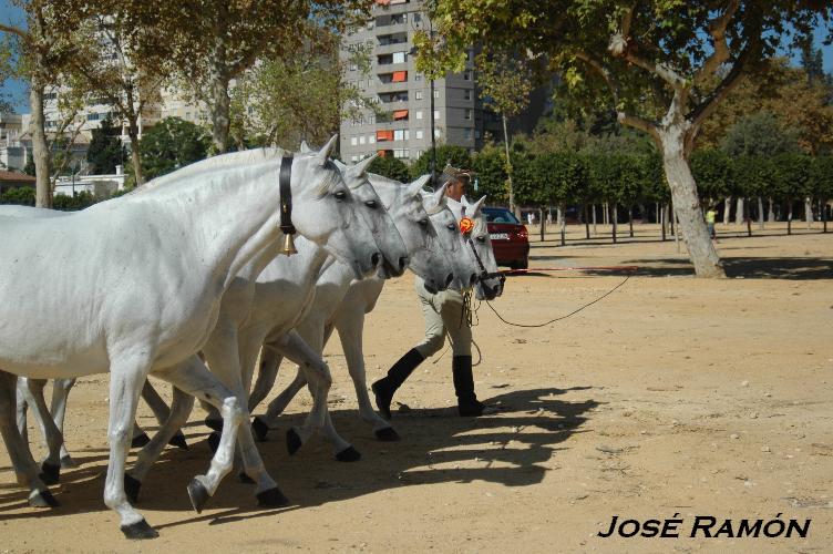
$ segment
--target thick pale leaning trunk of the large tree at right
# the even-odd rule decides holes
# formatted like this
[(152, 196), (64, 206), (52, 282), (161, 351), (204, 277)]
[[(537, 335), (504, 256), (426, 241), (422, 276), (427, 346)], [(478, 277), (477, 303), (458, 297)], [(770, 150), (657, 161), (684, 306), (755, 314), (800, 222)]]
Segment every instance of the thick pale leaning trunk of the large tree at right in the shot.
[(679, 219), (682, 239), (688, 246), (691, 263), (698, 277), (726, 277), (714, 245), (706, 227), (697, 183), (685, 156), (683, 130), (671, 125), (660, 133), (662, 167), (671, 188), (673, 213)]

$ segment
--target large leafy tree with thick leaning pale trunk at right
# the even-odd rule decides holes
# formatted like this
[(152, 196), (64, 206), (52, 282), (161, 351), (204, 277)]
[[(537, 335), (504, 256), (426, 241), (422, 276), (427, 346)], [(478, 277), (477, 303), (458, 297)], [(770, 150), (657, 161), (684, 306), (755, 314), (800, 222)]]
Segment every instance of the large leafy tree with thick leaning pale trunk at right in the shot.
[(700, 277), (724, 276), (688, 164), (703, 121), (741, 75), (833, 14), (809, 0), (438, 0), (433, 11), (442, 49), (421, 37), (420, 69), (460, 68), (476, 42), (545, 57), (572, 94), (605, 100), (620, 123), (647, 133)]

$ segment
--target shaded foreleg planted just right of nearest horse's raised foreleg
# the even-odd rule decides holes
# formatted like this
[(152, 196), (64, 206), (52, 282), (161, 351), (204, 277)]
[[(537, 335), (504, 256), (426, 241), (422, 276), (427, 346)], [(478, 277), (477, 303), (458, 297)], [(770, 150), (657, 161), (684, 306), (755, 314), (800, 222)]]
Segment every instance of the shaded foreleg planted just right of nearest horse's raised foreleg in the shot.
[[(212, 339), (203, 348), (203, 353), (208, 360), (212, 373), (237, 397), (238, 406), (244, 412), (244, 421), (248, 423), (248, 394), (243, 383), (239, 340), (236, 328), (215, 328)], [(286, 505), (286, 496), (267, 473), (260, 453), (257, 451), (255, 439), (251, 435), (251, 425), (240, 425), (238, 433), (237, 445), (243, 460), (244, 473), (256, 484), (255, 495), (258, 504), (264, 506)]]

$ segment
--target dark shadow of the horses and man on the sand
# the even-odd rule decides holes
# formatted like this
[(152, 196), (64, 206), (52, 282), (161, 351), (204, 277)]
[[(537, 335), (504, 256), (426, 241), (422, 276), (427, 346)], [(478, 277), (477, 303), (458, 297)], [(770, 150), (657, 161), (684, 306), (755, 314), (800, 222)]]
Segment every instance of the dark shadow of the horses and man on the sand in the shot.
[[(302, 414), (285, 417), (280, 429), (271, 431), (270, 441), (258, 444), (269, 473), (294, 502), (279, 510), (256, 507), (254, 485), (243, 484), (229, 474), (207, 505), (207, 509), (224, 511), (196, 515), (185, 488), (192, 476), (207, 470), (210, 451), (203, 440), (206, 428), (191, 423), (186, 427), (191, 449), (165, 450), (143, 483), (137, 509), (182, 512), (179, 520), (157, 526), (164, 529), (199, 521), (216, 525), (268, 517), (287, 510), (401, 486), (477, 480), (505, 486), (534, 485), (549, 471), (553, 453), (566, 448), (561, 444), (574, 433), (584, 432), (582, 427), (587, 421), (588, 410), (598, 406), (593, 400), (567, 402), (558, 397), (568, 390), (589, 389), (506, 392), (487, 400), (500, 407), (498, 413), (477, 419), (460, 418), (452, 409), (394, 413), (393, 423), (402, 440), (393, 443), (377, 441), (370, 428), (359, 420), (357, 410), (332, 410), (339, 432), (362, 453), (362, 459), (356, 463), (337, 462), (329, 445), (319, 438), (289, 456), (284, 433), (290, 425), (299, 424)], [(64, 470), (61, 485), (52, 488), (60, 507), (21, 511), (27, 506), (25, 491), (13, 482), (7, 483), (0, 485), (0, 522), (106, 511), (102, 501), (106, 449), (73, 453), (81, 466)], [(7, 476), (11, 474), (10, 468), (0, 471)]]

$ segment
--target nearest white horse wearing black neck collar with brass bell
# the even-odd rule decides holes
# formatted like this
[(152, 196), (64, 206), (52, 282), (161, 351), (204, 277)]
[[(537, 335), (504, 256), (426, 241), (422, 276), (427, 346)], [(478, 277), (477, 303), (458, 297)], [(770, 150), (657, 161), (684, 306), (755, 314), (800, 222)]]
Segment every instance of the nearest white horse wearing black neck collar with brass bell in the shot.
[[(380, 255), (370, 229), (348, 209), (350, 191), (327, 161), (331, 145), (292, 160), (292, 223), (363, 277)], [(136, 402), (152, 371), (220, 409), (217, 453), (208, 473), (188, 485), (197, 509), (214, 494), (230, 470), (245, 399), (194, 353), (214, 327), (224, 290), (280, 236), (280, 164), (186, 168), (72, 215), (0, 220), (0, 431), (32, 504), (54, 499), (14, 425), (16, 375), (111, 372), (104, 502), (119, 513), (126, 536), (157, 536), (124, 493)]]

